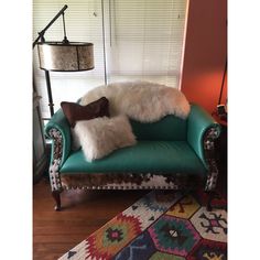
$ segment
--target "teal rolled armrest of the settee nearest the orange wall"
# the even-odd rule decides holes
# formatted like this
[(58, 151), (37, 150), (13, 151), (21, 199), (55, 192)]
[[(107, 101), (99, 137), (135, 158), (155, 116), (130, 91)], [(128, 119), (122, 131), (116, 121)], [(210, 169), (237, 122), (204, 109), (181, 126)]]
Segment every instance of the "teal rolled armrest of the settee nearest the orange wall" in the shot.
[[(191, 113), (187, 119), (187, 142), (203, 161), (206, 169), (209, 167), (205, 145), (209, 141), (218, 138), (220, 126), (214, 118), (197, 105), (192, 105)], [(212, 143), (213, 145), (213, 143)]]

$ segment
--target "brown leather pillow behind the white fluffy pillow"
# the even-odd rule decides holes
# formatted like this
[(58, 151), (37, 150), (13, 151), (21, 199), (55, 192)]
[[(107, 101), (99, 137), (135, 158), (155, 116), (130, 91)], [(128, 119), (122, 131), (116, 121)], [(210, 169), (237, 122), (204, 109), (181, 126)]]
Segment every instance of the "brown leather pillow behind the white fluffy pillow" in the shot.
[(109, 117), (109, 101), (106, 97), (101, 97), (86, 106), (63, 101), (61, 107), (72, 128), (75, 127), (76, 121)]

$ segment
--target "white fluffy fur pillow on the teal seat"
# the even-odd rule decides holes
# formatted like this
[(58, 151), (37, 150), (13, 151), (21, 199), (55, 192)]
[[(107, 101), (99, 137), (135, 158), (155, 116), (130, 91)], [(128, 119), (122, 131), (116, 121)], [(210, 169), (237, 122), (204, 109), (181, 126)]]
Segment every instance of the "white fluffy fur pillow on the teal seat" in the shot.
[(137, 143), (126, 116), (77, 121), (74, 128), (88, 162)]

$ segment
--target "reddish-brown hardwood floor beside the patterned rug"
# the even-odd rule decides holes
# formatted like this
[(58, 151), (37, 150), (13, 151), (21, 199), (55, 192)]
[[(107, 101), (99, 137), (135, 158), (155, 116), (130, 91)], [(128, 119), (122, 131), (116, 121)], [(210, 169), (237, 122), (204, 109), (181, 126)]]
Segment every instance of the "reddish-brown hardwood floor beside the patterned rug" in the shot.
[(50, 184), (41, 180), (33, 188), (33, 259), (62, 257), (91, 232), (149, 191), (66, 191), (64, 210), (54, 210)]

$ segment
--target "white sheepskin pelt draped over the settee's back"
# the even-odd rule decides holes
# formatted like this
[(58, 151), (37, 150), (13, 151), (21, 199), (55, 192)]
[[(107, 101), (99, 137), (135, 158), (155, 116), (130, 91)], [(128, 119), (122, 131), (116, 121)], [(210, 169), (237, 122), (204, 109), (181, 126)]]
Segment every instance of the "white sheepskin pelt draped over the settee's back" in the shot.
[(185, 119), (189, 113), (186, 97), (176, 88), (149, 82), (124, 82), (102, 85), (88, 91), (80, 100), (85, 106), (106, 97), (111, 116), (120, 113), (141, 122), (153, 122), (166, 115)]

